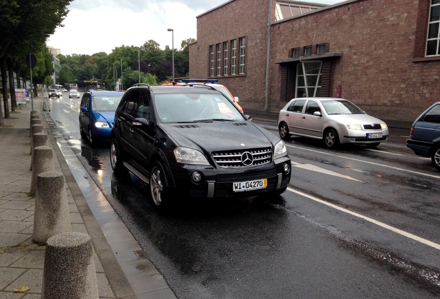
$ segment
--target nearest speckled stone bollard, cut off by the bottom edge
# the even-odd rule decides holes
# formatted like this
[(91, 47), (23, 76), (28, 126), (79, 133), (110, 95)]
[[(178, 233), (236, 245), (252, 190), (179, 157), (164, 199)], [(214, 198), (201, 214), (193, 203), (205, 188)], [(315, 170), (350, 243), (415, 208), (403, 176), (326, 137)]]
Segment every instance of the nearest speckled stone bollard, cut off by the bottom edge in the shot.
[(42, 299), (98, 299), (91, 237), (60, 233), (47, 240)]

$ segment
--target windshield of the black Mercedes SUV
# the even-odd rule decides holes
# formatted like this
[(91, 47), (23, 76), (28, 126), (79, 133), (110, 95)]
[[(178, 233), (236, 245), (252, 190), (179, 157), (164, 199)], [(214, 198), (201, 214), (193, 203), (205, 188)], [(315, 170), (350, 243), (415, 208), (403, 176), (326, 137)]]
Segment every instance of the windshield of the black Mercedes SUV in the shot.
[(163, 123), (244, 120), (237, 107), (218, 93), (158, 94), (154, 100)]

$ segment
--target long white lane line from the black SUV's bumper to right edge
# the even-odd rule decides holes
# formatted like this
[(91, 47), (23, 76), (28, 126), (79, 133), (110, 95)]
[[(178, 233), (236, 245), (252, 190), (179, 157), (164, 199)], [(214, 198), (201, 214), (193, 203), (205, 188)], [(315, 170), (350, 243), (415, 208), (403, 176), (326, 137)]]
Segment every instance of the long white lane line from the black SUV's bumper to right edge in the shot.
[(377, 226), (381, 226), (382, 228), (385, 228), (387, 230), (391, 230), (392, 232), (397, 233), (398, 235), (402, 235), (403, 237), (407, 237), (407, 238), (413, 239), (416, 242), (420, 242), (422, 244), (425, 244), (425, 245), (428, 245), (428, 246), (430, 246), (432, 248), (440, 250), (440, 244), (434, 243), (434, 242), (432, 242), (432, 241), (430, 241), (428, 239), (423, 239), (422, 237), (419, 237), (419, 236), (416, 236), (416, 235), (412, 235), (412, 233), (407, 233), (404, 230), (400, 230), (398, 228), (394, 228), (393, 226), (389, 226), (388, 224), (384, 224), (381, 221), (377, 221), (377, 220), (374, 220), (374, 219), (372, 219), (370, 217), (367, 217), (367, 216), (364, 216), (364, 215), (360, 215), (357, 212), (352, 212), (351, 210), (347, 210), (345, 208), (341, 208), (339, 206), (334, 205), (333, 203), (328, 203), (327, 201), (323, 201), (321, 199), (313, 197), (313, 196), (311, 196), (309, 194), (306, 194), (304, 192), (301, 192), (301, 191), (298, 191), (298, 190), (295, 190), (295, 189), (292, 189), (292, 188), (287, 188), (287, 190), (289, 190), (290, 192), (296, 193), (298, 195), (301, 195), (302, 197), (306, 197), (306, 198), (311, 199), (313, 201), (317, 201), (319, 203), (322, 203), (322, 204), (324, 204), (326, 206), (329, 206), (331, 208), (334, 208), (336, 210), (340, 210), (341, 212), (345, 212), (345, 213), (347, 213), (349, 215), (352, 215), (354, 217), (358, 217), (360, 219), (364, 219), (366, 221), (369, 221), (372, 224), (376, 224)]

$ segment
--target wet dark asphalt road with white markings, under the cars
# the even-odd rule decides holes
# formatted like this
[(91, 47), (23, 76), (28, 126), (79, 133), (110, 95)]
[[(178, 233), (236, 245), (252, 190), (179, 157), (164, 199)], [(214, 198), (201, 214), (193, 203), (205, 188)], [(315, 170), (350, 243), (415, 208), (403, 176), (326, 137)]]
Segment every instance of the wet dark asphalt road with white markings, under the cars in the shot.
[[(406, 148), (405, 130), (378, 149), (293, 138), (279, 199), (158, 212), (148, 185), (113, 175), (108, 145), (80, 138), (78, 102), (47, 101), (60, 136), (178, 298), (439, 298), (440, 172)], [(254, 121), (277, 134), (276, 120)]]

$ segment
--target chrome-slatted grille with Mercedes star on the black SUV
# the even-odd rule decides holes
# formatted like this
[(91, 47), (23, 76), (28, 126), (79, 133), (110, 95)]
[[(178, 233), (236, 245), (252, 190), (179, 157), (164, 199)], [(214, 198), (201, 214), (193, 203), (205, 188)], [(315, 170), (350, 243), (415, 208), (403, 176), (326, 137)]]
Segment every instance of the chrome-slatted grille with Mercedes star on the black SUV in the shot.
[[(272, 148), (230, 150), (212, 152), (212, 158), (219, 167), (254, 167), (272, 162)], [(250, 163), (250, 159), (252, 162)]]

